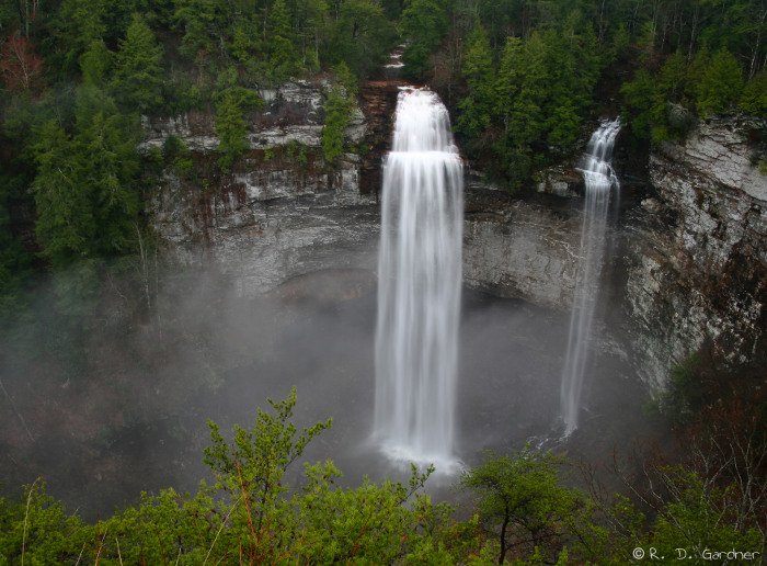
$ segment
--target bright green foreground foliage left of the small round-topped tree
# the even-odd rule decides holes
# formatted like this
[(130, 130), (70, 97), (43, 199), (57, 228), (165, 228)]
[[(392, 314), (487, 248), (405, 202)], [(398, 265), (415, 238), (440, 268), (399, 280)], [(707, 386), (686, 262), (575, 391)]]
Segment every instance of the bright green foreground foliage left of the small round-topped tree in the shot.
[[(32, 564), (96, 557), (105, 564), (204, 564), (335, 562), (450, 564), (478, 545), (472, 523), (455, 528), (451, 509), (421, 494), (431, 469), (412, 471), (407, 485), (365, 479), (340, 488), (340, 472), (328, 461), (306, 464), (305, 480), (288, 488), (285, 473), (331, 421), (298, 431), (291, 422), (295, 389), (271, 411), (259, 411), (248, 430), (236, 427), (232, 442), (210, 424), (205, 461), (216, 486), (196, 495), (172, 489), (144, 494), (136, 507), (84, 524), (43, 494), (26, 489), (18, 502), (0, 499), (0, 555)], [(28, 497), (27, 497), (28, 494)], [(221, 497), (224, 496), (224, 497)], [(28, 501), (28, 502), (27, 502)], [(465, 536), (457, 544), (456, 534)]]

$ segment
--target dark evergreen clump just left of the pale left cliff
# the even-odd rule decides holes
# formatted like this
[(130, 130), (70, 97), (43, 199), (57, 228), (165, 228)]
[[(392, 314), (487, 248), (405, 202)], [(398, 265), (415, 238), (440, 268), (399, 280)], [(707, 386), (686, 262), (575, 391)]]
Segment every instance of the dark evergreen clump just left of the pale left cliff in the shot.
[(75, 134), (55, 121), (36, 134), (35, 233), (43, 254), (62, 267), (133, 248), (138, 215), (138, 127), (103, 91), (78, 91)]

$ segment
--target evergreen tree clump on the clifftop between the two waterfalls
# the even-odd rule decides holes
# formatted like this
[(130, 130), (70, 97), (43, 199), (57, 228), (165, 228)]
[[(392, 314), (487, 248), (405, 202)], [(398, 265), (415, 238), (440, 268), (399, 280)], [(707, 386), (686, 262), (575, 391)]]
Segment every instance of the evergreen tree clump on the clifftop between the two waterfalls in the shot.
[(600, 71), (594, 35), (576, 14), (559, 30), (508, 37), (497, 70), (486, 33), (469, 39), (457, 126), (471, 157), (490, 154), (486, 169), (513, 190), (533, 171), (572, 151)]

